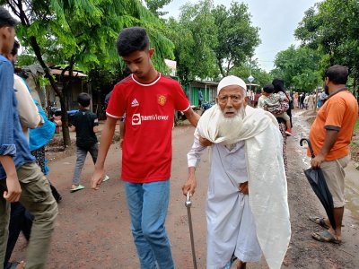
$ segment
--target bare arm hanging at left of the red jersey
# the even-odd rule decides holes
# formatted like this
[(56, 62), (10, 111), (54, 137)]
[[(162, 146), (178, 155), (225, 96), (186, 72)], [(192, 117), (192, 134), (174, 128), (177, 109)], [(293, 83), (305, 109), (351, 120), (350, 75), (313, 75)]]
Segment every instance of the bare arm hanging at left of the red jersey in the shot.
[(96, 190), (100, 188), (102, 177), (105, 173), (105, 160), (107, 153), (109, 152), (109, 146), (112, 143), (117, 121), (118, 118), (108, 116), (102, 129), (99, 154), (97, 156), (95, 170), (92, 175), (92, 188)]

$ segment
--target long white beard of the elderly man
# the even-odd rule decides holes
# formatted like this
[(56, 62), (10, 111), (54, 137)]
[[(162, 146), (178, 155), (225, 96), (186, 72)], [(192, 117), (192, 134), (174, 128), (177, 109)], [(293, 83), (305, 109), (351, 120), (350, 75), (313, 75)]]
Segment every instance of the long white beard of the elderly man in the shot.
[(218, 137), (224, 137), (223, 144), (231, 145), (238, 139), (238, 134), (243, 127), (243, 118), (245, 116), (245, 109), (241, 107), (234, 117), (224, 117), (221, 113), (218, 117)]

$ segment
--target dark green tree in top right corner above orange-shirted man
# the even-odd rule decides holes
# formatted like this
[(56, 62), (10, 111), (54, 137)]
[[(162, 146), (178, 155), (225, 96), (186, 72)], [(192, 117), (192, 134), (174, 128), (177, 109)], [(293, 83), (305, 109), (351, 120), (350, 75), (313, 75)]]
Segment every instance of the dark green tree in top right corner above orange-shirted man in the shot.
[(303, 46), (324, 54), (322, 72), (329, 65), (348, 66), (355, 90), (359, 84), (358, 16), (358, 1), (326, 0), (311, 7), (295, 30)]

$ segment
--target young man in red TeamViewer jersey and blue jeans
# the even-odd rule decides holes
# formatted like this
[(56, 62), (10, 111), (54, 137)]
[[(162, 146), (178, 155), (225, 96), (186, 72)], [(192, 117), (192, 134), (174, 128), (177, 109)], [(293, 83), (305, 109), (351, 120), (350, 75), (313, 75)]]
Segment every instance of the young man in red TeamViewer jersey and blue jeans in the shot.
[(154, 49), (143, 28), (121, 30), (117, 47), (132, 74), (112, 91), (92, 188), (100, 187), (116, 122), (126, 113), (121, 178), (141, 268), (171, 269), (174, 264), (164, 222), (170, 197), (174, 109), (183, 111), (193, 126), (199, 116), (190, 108), (180, 83), (153, 67)]

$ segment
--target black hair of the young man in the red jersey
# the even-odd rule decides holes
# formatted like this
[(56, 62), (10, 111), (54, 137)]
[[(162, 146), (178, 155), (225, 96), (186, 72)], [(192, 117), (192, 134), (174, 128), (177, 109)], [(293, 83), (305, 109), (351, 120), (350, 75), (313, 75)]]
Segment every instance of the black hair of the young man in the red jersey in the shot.
[(118, 34), (117, 48), (119, 56), (128, 56), (134, 51), (143, 51), (150, 47), (146, 30), (141, 27), (130, 27)]

